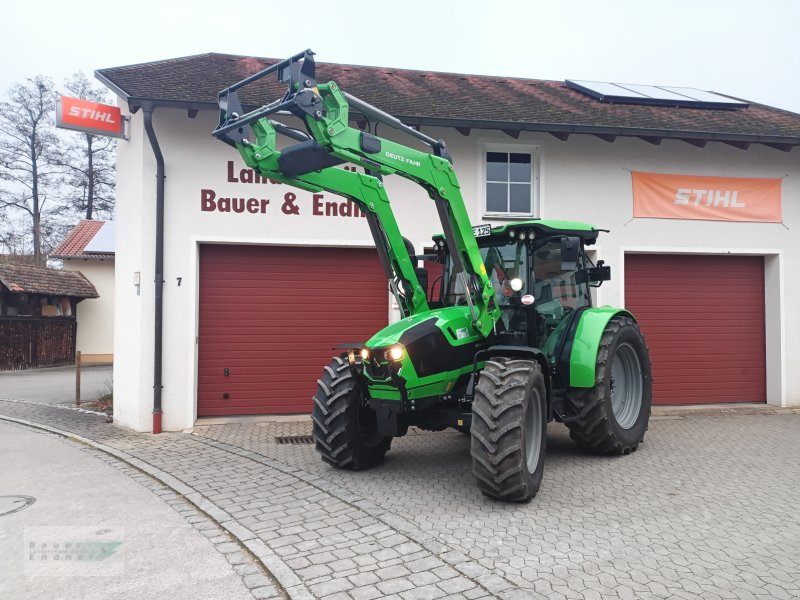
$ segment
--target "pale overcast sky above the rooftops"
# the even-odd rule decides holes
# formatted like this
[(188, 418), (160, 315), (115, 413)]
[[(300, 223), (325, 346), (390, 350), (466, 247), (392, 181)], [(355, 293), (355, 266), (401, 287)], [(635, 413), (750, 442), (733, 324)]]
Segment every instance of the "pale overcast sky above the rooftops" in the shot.
[[(800, 113), (798, 0), (36, 0), (4, 7), (0, 92), (204, 52), (696, 87)], [(487, 99), (488, 100), (488, 99)]]

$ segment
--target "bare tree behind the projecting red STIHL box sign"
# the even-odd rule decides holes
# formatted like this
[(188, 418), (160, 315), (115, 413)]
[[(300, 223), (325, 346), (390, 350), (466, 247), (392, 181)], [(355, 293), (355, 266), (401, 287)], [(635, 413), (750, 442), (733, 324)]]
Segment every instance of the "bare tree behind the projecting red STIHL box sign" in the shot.
[[(110, 101), (106, 90), (93, 86), (83, 72), (67, 79), (64, 87), (71, 96), (81, 100)], [(96, 215), (111, 217), (114, 212), (114, 138), (86, 132), (70, 132), (70, 138), (63, 163), (67, 171), (65, 200), (86, 219)]]

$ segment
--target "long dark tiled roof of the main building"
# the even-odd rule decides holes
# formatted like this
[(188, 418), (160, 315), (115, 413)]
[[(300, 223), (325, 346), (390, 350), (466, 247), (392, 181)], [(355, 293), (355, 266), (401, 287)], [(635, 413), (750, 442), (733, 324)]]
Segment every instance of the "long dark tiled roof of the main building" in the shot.
[[(100, 69), (96, 75), (133, 109), (148, 101), (196, 109), (216, 107), (220, 90), (275, 62), (208, 53)], [(561, 139), (589, 133), (609, 141), (624, 135), (652, 143), (665, 137), (697, 145), (764, 143), (787, 151), (800, 145), (800, 115), (755, 102), (735, 110), (608, 104), (562, 81), (332, 63), (317, 63), (317, 78), (334, 80), (410, 124), (500, 129), (512, 136), (546, 131)], [(260, 106), (282, 95), (283, 84), (266, 79), (242, 90), (245, 104)]]

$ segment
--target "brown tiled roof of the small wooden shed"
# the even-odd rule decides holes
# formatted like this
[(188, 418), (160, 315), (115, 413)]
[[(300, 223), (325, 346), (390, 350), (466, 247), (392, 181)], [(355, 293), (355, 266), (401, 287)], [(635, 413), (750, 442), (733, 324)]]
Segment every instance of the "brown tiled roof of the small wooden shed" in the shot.
[(98, 298), (95, 287), (79, 271), (0, 263), (0, 284), (12, 294), (47, 294)]

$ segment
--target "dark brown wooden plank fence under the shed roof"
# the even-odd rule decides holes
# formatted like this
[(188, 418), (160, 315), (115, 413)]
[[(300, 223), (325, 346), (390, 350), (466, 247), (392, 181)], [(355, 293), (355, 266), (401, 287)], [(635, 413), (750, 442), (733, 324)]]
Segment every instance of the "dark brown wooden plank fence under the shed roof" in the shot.
[(0, 371), (75, 364), (75, 317), (0, 317)]

